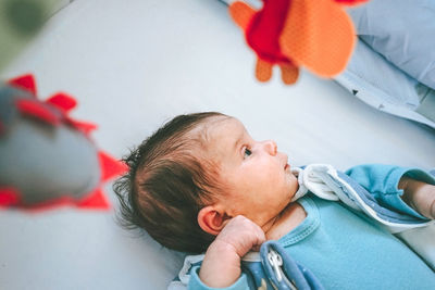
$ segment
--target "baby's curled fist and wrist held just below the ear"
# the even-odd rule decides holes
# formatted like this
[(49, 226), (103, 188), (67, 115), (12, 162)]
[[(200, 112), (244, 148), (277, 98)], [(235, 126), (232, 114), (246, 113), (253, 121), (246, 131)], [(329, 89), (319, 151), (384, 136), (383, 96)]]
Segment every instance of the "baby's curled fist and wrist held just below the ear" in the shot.
[(240, 276), (240, 259), (265, 241), (263, 230), (245, 216), (232, 218), (207, 250), (199, 277), (209, 287), (223, 288)]

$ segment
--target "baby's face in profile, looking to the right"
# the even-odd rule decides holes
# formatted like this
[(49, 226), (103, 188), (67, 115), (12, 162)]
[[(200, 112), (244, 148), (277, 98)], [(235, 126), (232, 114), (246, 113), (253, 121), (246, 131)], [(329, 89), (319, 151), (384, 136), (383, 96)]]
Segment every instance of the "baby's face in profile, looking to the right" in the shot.
[(232, 117), (211, 121), (207, 136), (225, 190), (217, 203), (227, 215), (244, 215), (263, 226), (287, 206), (299, 186), (274, 141), (253, 140)]

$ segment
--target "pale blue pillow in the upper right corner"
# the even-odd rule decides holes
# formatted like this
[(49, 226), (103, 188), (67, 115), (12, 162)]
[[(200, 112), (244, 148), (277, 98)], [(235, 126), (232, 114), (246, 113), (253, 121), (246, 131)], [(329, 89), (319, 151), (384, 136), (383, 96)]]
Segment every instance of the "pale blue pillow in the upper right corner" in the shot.
[(361, 40), (435, 89), (435, 1), (371, 0), (348, 13)]

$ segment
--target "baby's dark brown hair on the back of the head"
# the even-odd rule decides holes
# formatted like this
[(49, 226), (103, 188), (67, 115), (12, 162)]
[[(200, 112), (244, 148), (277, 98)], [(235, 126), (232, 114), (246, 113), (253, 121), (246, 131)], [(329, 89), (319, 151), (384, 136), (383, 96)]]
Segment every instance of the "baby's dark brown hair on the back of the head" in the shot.
[(210, 117), (228, 116), (216, 112), (176, 116), (123, 159), (129, 171), (113, 189), (124, 228), (142, 228), (176, 251), (207, 250), (214, 236), (199, 227), (197, 215), (219, 190), (219, 165), (206, 157), (207, 134), (200, 126)]

